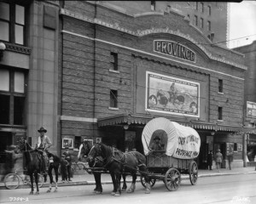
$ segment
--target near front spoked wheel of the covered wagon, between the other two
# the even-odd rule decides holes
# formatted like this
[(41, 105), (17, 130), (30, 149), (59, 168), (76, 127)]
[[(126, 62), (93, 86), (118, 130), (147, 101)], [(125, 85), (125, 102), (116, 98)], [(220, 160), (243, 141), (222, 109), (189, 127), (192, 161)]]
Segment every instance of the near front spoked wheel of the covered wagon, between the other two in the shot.
[(165, 184), (167, 190), (174, 191), (177, 190), (181, 181), (181, 176), (177, 168), (170, 168), (166, 172)]

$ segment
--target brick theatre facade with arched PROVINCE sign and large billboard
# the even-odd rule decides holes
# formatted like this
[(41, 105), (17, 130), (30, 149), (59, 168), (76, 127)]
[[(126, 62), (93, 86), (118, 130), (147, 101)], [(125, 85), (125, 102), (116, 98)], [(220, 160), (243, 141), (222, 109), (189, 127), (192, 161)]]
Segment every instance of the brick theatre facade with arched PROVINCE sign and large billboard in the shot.
[(199, 167), (218, 149), (226, 167), (231, 146), (234, 167), (243, 167), (253, 131), (243, 127), (243, 54), (212, 44), (172, 10), (67, 1), (60, 21), (61, 150), (75, 154), (89, 139), (143, 152), (143, 127), (161, 116), (199, 133)]

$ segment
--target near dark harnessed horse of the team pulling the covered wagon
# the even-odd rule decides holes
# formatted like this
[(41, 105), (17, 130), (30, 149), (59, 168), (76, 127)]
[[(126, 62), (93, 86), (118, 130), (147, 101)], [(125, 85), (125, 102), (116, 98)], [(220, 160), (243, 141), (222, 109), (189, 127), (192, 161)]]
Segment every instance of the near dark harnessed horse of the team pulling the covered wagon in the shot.
[(119, 196), (121, 195), (120, 190), (120, 179), (121, 174), (130, 173), (132, 176), (131, 187), (127, 190), (127, 193), (132, 193), (135, 190), (135, 184), (137, 179), (137, 169), (144, 176), (146, 181), (146, 191), (145, 193), (150, 193), (150, 184), (148, 178), (148, 170), (145, 165), (146, 157), (138, 151), (131, 151), (123, 153), (120, 150), (113, 149), (112, 147), (98, 143), (94, 144), (91, 148), (88, 159), (89, 161), (94, 161), (97, 156), (102, 156), (103, 167), (108, 169), (112, 182), (113, 182), (113, 192), (111, 195)]

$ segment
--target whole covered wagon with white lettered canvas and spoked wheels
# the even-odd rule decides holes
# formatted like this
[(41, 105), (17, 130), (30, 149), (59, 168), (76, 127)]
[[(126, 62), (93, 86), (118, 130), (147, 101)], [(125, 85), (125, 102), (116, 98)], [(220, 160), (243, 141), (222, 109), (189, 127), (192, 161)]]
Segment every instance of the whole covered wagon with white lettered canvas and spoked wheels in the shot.
[[(157, 150), (152, 148), (154, 139), (160, 140)], [(168, 190), (177, 190), (181, 174), (189, 174), (190, 183), (196, 183), (198, 167), (195, 158), (200, 152), (201, 139), (194, 128), (164, 117), (154, 118), (144, 127), (142, 142), (151, 186), (160, 179)], [(143, 178), (141, 181), (144, 185)]]

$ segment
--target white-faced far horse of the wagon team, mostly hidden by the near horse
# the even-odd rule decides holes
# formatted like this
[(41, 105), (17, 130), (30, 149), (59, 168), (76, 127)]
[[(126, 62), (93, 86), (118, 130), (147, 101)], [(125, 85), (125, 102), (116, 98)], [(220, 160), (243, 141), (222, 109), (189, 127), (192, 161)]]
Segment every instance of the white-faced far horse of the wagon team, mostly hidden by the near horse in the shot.
[[(80, 144), (79, 147), (79, 154), (78, 154), (78, 159), (80, 160), (84, 156), (88, 156), (90, 149), (92, 145), (88, 141), (84, 141), (82, 144)], [(89, 167), (103, 167), (103, 162), (102, 162), (102, 157), (98, 156), (94, 161), (89, 162)], [(102, 173), (96, 173), (92, 172), (95, 182), (96, 182), (96, 188), (94, 189), (95, 194), (102, 194)], [(122, 175), (124, 184), (122, 187), (122, 190), (127, 189), (127, 184), (126, 184), (126, 176), (125, 174)]]

